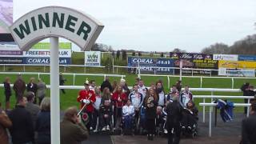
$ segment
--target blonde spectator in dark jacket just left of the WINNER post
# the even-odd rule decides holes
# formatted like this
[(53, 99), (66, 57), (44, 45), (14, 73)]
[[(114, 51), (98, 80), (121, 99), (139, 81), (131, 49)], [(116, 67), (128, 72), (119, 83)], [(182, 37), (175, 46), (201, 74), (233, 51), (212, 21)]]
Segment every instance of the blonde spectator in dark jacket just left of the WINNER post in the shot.
[(38, 132), (37, 144), (50, 144), (50, 98), (43, 98), (38, 113), (35, 130)]

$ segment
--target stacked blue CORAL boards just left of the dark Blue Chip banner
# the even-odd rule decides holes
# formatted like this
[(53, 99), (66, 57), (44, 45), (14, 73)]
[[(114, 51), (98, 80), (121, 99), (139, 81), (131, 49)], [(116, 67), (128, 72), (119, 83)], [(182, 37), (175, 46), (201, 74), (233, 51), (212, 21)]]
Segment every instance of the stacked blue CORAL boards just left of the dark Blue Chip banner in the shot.
[(141, 72), (173, 73), (174, 60), (170, 58), (128, 57), (128, 66), (139, 66)]

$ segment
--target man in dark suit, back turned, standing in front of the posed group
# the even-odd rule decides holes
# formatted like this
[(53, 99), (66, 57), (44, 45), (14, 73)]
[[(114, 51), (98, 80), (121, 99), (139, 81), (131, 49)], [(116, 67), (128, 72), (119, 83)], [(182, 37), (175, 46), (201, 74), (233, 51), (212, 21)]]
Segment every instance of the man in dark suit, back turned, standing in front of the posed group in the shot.
[(172, 95), (173, 102), (166, 106), (168, 144), (178, 144), (181, 135), (180, 123), (182, 122), (182, 106), (178, 102), (178, 95)]

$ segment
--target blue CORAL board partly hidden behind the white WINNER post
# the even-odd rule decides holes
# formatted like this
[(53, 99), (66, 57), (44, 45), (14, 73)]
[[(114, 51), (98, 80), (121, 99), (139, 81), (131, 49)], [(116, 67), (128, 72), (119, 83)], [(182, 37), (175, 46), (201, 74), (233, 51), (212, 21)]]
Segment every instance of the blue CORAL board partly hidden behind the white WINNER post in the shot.
[[(42, 64), (42, 65), (50, 65), (49, 57), (25, 57), (23, 58), (24, 64)], [(60, 65), (70, 65), (71, 58), (59, 58)]]

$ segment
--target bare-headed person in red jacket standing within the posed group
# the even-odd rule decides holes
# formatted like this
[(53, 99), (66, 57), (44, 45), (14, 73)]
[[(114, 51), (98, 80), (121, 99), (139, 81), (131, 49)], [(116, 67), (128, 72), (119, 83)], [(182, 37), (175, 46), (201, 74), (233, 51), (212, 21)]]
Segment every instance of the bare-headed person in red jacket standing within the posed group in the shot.
[(122, 118), (122, 106), (126, 105), (127, 102), (126, 93), (122, 92), (122, 86), (117, 86), (116, 90), (114, 90), (114, 94), (112, 95), (112, 102), (114, 106), (114, 126), (118, 128)]

